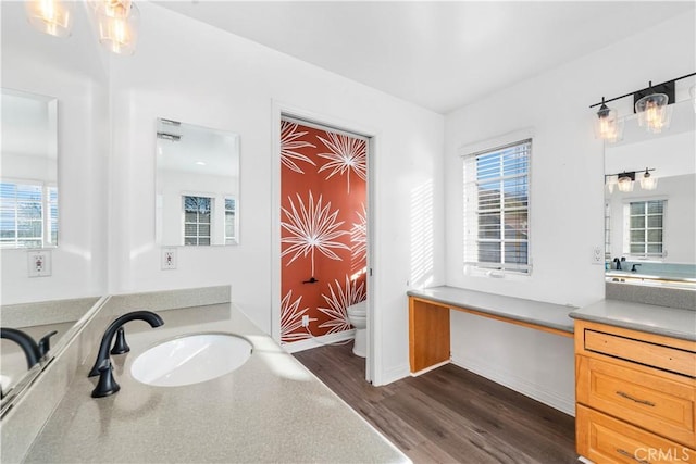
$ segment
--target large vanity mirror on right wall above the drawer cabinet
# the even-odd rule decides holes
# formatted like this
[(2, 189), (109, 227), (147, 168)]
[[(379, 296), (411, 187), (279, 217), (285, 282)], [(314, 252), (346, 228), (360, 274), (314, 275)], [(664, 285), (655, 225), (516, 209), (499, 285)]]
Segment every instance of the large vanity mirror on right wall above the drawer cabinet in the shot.
[(696, 288), (696, 113), (691, 100), (672, 106), (668, 129), (631, 115), (605, 146), (608, 281)]

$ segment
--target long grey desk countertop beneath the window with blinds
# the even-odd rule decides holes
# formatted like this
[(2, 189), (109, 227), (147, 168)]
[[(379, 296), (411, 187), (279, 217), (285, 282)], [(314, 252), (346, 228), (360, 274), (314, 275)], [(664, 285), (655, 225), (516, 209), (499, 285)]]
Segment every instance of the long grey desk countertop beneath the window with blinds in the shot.
[(551, 327), (570, 334), (573, 333), (573, 319), (568, 316), (568, 313), (575, 310), (576, 306), (525, 300), (449, 286), (409, 290), (407, 294), (509, 319)]

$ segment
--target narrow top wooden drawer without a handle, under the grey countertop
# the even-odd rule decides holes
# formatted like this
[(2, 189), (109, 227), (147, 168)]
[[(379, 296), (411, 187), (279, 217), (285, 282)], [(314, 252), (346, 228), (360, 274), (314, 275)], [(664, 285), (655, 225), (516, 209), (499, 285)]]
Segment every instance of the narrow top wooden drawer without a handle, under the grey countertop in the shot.
[(648, 341), (585, 329), (585, 350), (696, 377), (696, 353)]

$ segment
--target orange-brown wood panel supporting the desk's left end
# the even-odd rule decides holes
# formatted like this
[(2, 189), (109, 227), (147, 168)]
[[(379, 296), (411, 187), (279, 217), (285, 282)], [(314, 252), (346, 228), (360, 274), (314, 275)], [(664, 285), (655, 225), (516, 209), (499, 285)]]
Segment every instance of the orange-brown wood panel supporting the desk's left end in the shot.
[(411, 373), (449, 361), (449, 308), (409, 297)]

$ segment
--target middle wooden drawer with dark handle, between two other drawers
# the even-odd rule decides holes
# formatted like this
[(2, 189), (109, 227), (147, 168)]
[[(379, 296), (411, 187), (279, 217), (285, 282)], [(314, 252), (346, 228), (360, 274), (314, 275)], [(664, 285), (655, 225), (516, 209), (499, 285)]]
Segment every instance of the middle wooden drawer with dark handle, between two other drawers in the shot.
[(600, 360), (576, 358), (577, 402), (696, 448), (696, 388)]

